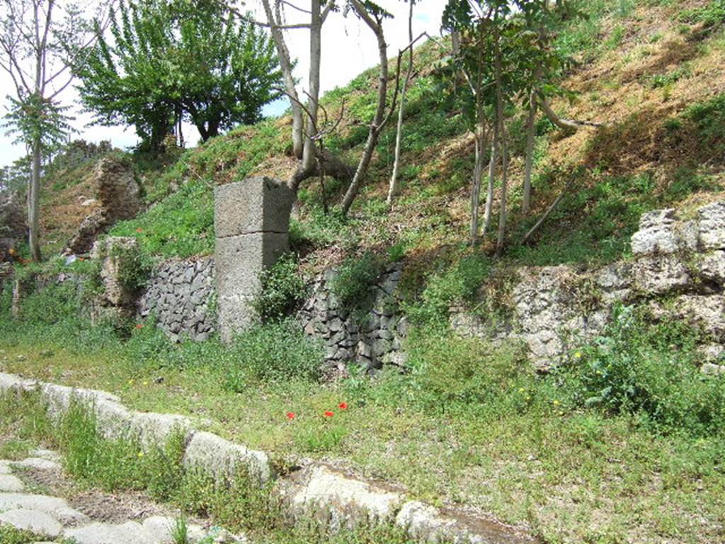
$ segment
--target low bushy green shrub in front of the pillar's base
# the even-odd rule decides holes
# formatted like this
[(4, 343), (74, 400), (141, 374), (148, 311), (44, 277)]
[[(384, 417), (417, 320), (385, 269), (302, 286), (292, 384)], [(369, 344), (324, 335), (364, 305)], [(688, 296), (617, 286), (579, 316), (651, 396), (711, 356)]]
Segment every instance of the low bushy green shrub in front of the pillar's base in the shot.
[(244, 331), (221, 355), (225, 358), (225, 388), (236, 392), (254, 382), (318, 379), (323, 363), (317, 343), (291, 321)]

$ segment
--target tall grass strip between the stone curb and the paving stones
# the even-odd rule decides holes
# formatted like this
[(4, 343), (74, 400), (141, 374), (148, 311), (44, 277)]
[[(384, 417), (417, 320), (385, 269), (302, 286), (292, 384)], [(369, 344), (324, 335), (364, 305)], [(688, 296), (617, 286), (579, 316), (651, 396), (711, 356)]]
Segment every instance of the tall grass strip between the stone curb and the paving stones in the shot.
[[(133, 437), (104, 438), (92, 407), (78, 398), (72, 399), (67, 411), (55, 421), (34, 392), (1, 394), (0, 408), (0, 429), (5, 436), (58, 448), (66, 471), (83, 485), (109, 492), (144, 491), (155, 500), (181, 508), (182, 514), (172, 528), (175, 542), (186, 544), (186, 512), (210, 516), (216, 524), (243, 530), (268, 543), (353, 544), (360, 538), (370, 544), (409, 542), (404, 532), (392, 527), (363, 524), (354, 531), (332, 534), (331, 527), (304, 518), (291, 527), (270, 488), (272, 484), (260, 485), (244, 466), (232, 468), (232, 475), (226, 477), (185, 467), (183, 432), (171, 432), (165, 444), (141, 448)], [(29, 544), (38, 535), (2, 526), (0, 538), (3, 544)], [(213, 530), (209, 543), (212, 538)]]

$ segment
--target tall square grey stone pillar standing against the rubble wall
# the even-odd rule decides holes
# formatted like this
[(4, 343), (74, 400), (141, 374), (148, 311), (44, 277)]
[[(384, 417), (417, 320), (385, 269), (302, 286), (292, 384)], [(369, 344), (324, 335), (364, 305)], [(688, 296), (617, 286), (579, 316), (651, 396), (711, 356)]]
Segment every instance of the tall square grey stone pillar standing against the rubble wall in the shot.
[(289, 250), (294, 192), (271, 178), (247, 178), (215, 191), (215, 263), (222, 342), (254, 321), (260, 272)]

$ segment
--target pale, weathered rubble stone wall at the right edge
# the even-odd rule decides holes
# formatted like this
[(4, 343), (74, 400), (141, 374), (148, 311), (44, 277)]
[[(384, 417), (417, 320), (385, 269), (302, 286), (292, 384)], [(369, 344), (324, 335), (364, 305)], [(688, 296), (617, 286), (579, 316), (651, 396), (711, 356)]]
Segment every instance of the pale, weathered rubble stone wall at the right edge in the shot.
[(703, 362), (721, 360), (725, 202), (700, 208), (691, 221), (682, 221), (671, 209), (645, 213), (632, 236), (631, 252), (629, 260), (586, 273), (568, 265), (518, 269), (513, 317), (505, 334), (486, 318), (463, 311), (452, 313), (452, 326), (465, 336), (521, 339), (537, 367), (547, 368), (600, 334), (614, 304), (639, 302), (649, 306), (654, 318), (700, 326), (711, 339), (702, 346)]

